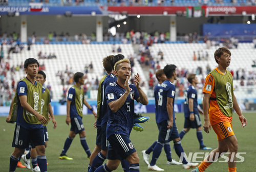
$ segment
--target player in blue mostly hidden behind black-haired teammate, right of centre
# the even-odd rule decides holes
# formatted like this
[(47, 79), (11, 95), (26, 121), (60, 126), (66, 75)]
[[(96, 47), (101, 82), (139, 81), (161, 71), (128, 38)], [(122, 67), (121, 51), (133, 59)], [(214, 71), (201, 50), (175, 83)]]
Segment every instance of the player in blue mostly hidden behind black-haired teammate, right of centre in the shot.
[[(160, 89), (161, 84), (163, 83), (163, 81), (165, 81), (167, 78), (166, 78), (162, 69), (159, 69), (156, 72), (156, 78), (158, 80), (158, 83), (157, 83), (157, 85), (155, 86), (155, 89), (154, 89), (154, 97), (155, 97), (156, 121), (157, 121), (157, 118), (158, 118), (158, 99), (159, 99), (159, 94), (160, 94), (159, 89)], [(160, 125), (158, 123), (157, 123), (157, 127), (158, 127), (158, 130), (159, 130)], [(150, 147), (148, 147), (147, 150), (142, 150), (143, 160), (147, 165), (150, 164), (148, 162), (148, 159), (150, 158), (150, 153), (153, 151), (156, 143), (157, 143), (157, 141), (155, 141)], [(163, 147), (164, 147), (164, 151), (165, 151), (166, 158), (167, 158), (167, 165), (182, 165), (182, 163), (177, 162), (177, 161), (172, 159), (171, 152), (170, 152), (170, 142), (164, 143)]]

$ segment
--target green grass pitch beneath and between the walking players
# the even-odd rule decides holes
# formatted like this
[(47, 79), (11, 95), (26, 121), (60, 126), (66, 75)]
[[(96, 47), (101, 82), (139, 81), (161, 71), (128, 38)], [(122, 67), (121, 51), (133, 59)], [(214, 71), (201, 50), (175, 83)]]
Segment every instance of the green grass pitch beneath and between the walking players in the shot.
[[(137, 150), (140, 158), (140, 171), (147, 171), (147, 166), (143, 162), (141, 151), (147, 149), (155, 140), (158, 138), (158, 130), (155, 122), (155, 114), (148, 113), (143, 114), (144, 116), (149, 116), (151, 119), (148, 122), (142, 123), (144, 127), (143, 132), (131, 133), (131, 140)], [(255, 170), (254, 160), (256, 160), (256, 149), (255, 149), (255, 125), (253, 121), (256, 121), (255, 113), (244, 113), (247, 118), (248, 124), (246, 127), (241, 127), (241, 122), (236, 113), (233, 114), (233, 131), (238, 139), (239, 152), (245, 152), (242, 156), (245, 158), (244, 162), (237, 163), (237, 170), (242, 172), (253, 172)], [(183, 128), (184, 115), (182, 113), (176, 114), (176, 123), (178, 131), (180, 132)], [(0, 145), (1, 145), (1, 156), (0, 156), (0, 171), (9, 171), (9, 159), (14, 148), (11, 147), (13, 133), (15, 124), (9, 124), (5, 122), (6, 117), (0, 117)], [(58, 159), (59, 154), (63, 148), (63, 144), (69, 134), (70, 126), (65, 123), (66, 116), (55, 116), (57, 121), (57, 128), (53, 129), (53, 124), (50, 121), (48, 124), (49, 142), (46, 149), (46, 156), (48, 165), (48, 171), (87, 171), (89, 160), (84, 152), (79, 135), (73, 140), (67, 155), (72, 157), (73, 160), (60, 160)], [(201, 116), (203, 121), (203, 116)], [(83, 117), (83, 124), (86, 130), (87, 143), (90, 147), (91, 152), (95, 146), (96, 129), (93, 128), (94, 118), (92, 115), (86, 115)], [(203, 132), (204, 144), (208, 147), (217, 147), (217, 138), (213, 130), (209, 134)], [(199, 150), (199, 143), (196, 137), (196, 130), (190, 130), (181, 141), (181, 145), (184, 148), (185, 153), (188, 155), (189, 152), (209, 152), (207, 150)], [(178, 156), (173, 149), (173, 142), (170, 142), (172, 150), (172, 158), (178, 160)], [(152, 156), (152, 154), (151, 154)], [(203, 160), (203, 158), (198, 158), (197, 160)], [(224, 159), (222, 159), (224, 160)], [(23, 161), (22, 161), (23, 162)], [(24, 162), (23, 162), (24, 164)], [(166, 157), (164, 150), (162, 149), (162, 154), (160, 155), (157, 165), (160, 168), (165, 169), (165, 171), (190, 171), (190, 169), (183, 169), (182, 165), (166, 165)], [(17, 168), (16, 171), (29, 171), (26, 168)], [(121, 164), (116, 171), (123, 171)], [(206, 171), (221, 172), (228, 171), (227, 163), (215, 162), (207, 168)]]

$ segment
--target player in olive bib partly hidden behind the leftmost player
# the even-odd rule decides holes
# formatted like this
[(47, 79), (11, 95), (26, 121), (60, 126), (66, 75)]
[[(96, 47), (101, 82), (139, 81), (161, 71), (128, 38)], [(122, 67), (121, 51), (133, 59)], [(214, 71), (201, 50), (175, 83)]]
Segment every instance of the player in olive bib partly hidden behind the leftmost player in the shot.
[[(46, 119), (52, 119), (53, 122), (53, 128), (55, 129), (57, 126), (57, 122), (54, 118), (53, 111), (52, 111), (52, 106), (51, 106), (51, 97), (50, 97), (50, 91), (44, 87), (44, 83), (46, 81), (46, 74), (44, 71), (38, 71), (36, 77), (35, 77), (37, 82), (40, 82), (42, 84), (42, 96), (41, 96), (41, 114), (46, 118)], [(50, 114), (50, 116), (49, 116)], [(44, 133), (45, 133), (45, 147), (47, 147), (47, 142), (49, 140), (48, 137), (48, 131), (46, 125), (44, 126)], [(37, 166), (37, 160), (36, 160), (36, 150), (32, 148), (30, 152), (26, 155), (22, 155), (22, 159), (25, 162), (25, 166), (28, 169), (31, 169), (30, 167), (30, 157), (31, 157), (31, 162), (32, 162), (32, 171), (40, 171), (39, 167)]]

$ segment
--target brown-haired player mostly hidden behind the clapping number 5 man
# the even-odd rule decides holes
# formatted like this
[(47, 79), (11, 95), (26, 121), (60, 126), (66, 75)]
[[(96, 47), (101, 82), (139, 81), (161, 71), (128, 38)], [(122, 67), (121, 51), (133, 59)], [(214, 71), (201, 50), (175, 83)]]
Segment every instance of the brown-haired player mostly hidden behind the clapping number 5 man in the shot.
[[(111, 67), (111, 60), (112, 60), (112, 57), (114, 57), (114, 55), (109, 55), (108, 57), (105, 57), (103, 58), (102, 62), (103, 62), (103, 67), (106, 71), (106, 74), (110, 75), (110, 73), (112, 72), (112, 67)], [(102, 161), (104, 159), (104, 157), (100, 157), (99, 152), (101, 151), (101, 140), (102, 140), (102, 130), (101, 130), (101, 119), (102, 119), (102, 114), (103, 114), (103, 111), (102, 111), (102, 105), (103, 105), (103, 99), (105, 97), (104, 95), (104, 86), (103, 86), (103, 81), (105, 80), (106, 76), (108, 75), (104, 75), (102, 77), (102, 79), (100, 80), (99, 82), (99, 87), (98, 87), (98, 97), (97, 97), (97, 121), (96, 121), (96, 127), (97, 127), (97, 136), (96, 136), (96, 146), (90, 156), (90, 161), (89, 161), (89, 164), (88, 164), (88, 171), (90, 170), (91, 166), (92, 166), (92, 163), (93, 163), (93, 160), (96, 156), (98, 156), (100, 159), (98, 160), (95, 160), (93, 166), (96, 166), (95, 163), (98, 163), (97, 161)], [(105, 132), (104, 132), (105, 133)], [(105, 134), (104, 134), (105, 136)], [(106, 141), (106, 138), (103, 138), (105, 141)], [(106, 146), (106, 142), (103, 146)], [(107, 145), (108, 146), (108, 145)], [(102, 154), (102, 153), (101, 153)], [(105, 159), (104, 159), (105, 160)], [(104, 161), (103, 160), (103, 161)], [(101, 162), (102, 164), (103, 162)], [(100, 164), (100, 165), (101, 165)], [(98, 165), (98, 166), (100, 166)]]

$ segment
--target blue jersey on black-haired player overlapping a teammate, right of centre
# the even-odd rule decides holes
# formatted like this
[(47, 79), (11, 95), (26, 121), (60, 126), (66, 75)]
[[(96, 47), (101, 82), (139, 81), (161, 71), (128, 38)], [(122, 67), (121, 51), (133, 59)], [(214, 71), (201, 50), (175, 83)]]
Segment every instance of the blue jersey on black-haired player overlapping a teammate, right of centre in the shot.
[(167, 97), (173, 98), (173, 119), (175, 123), (175, 113), (174, 113), (174, 101), (175, 101), (175, 85), (169, 80), (165, 80), (159, 89), (159, 100), (158, 100), (158, 118), (157, 123), (164, 120), (169, 120), (167, 112)]

